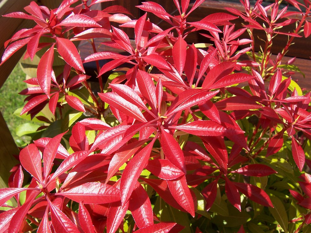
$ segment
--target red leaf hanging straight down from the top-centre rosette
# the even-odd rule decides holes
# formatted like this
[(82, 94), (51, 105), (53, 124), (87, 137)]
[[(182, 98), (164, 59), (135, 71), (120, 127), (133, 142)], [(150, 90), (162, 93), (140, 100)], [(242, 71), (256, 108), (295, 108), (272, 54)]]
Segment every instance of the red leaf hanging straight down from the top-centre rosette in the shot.
[(179, 75), (182, 75), (183, 67), (185, 66), (186, 50), (187, 50), (187, 42), (180, 35), (178, 40), (176, 41), (176, 43), (174, 44), (172, 48), (172, 54), (173, 54), (175, 67)]

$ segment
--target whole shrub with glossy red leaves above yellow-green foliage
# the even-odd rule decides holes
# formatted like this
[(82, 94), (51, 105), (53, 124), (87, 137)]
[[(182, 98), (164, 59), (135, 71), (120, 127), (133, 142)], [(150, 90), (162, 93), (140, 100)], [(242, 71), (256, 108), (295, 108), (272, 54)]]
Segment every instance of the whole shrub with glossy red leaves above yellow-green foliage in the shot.
[[(21, 114), (46, 124), (0, 190), (1, 232), (310, 232), (310, 93), (290, 78), (294, 59), (282, 58), (295, 37), (310, 35), (311, 2), (245, 0), (243, 12), (196, 22), (187, 19), (203, 0), (174, 0), (174, 16), (155, 2), (137, 6), (169, 25), (162, 30), (122, 6), (91, 10), (106, 1), (64, 0), (53, 10), (31, 2), (29, 14), (5, 15), (36, 23), (7, 41), (1, 64), (23, 46), (31, 60), (46, 51), (25, 81), (35, 86), (21, 91)], [(230, 22), (237, 17), (243, 29)], [(255, 29), (266, 35), (259, 52)], [(198, 30), (213, 44), (188, 44)], [(288, 41), (272, 60), (278, 34)], [(122, 52), (97, 52), (95, 38)], [(84, 40), (94, 51), (82, 60), (74, 42)], [(96, 62), (98, 93), (87, 62)], [(52, 119), (39, 114), (46, 106)]]

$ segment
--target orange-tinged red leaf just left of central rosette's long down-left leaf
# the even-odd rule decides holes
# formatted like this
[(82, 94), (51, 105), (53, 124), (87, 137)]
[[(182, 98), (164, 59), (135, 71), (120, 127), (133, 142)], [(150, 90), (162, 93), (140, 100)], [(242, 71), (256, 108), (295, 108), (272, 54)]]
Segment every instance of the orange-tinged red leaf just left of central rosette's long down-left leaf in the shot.
[(111, 177), (114, 176), (114, 174), (119, 170), (119, 168), (126, 161), (128, 161), (128, 159), (131, 158), (132, 155), (135, 154), (139, 150), (139, 148), (141, 148), (141, 146), (145, 144), (147, 141), (148, 140), (133, 142), (120, 148), (111, 158), (106, 182), (108, 182), (111, 179)]

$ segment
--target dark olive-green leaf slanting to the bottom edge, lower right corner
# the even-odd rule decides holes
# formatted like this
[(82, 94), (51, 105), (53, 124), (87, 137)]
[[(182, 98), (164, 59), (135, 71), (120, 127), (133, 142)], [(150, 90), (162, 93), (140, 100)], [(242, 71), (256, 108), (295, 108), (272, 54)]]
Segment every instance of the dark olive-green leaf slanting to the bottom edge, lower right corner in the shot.
[(272, 216), (280, 224), (285, 233), (288, 232), (288, 217), (283, 202), (276, 196), (270, 196), (274, 208), (268, 207)]

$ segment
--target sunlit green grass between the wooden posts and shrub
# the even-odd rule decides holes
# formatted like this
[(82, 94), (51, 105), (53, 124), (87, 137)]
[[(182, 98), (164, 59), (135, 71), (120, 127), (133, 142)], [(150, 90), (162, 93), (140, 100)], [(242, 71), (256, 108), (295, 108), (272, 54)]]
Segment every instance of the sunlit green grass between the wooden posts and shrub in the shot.
[(0, 111), (16, 142), (20, 138), (16, 135), (15, 128), (20, 124), (28, 122), (13, 114), (17, 108), (24, 106), (25, 96), (18, 93), (27, 87), (26, 83), (23, 82), (25, 78), (26, 74), (21, 70), (20, 65), (17, 64), (0, 89)]

